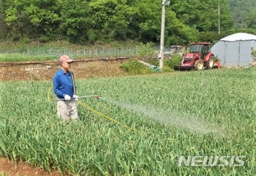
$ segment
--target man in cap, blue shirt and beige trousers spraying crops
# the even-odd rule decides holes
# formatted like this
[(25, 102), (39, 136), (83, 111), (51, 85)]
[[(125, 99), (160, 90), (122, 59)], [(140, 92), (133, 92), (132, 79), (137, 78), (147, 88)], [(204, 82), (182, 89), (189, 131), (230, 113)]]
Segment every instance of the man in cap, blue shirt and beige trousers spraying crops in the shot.
[(74, 74), (69, 71), (74, 61), (67, 55), (60, 58), (61, 69), (54, 74), (53, 91), (57, 96), (57, 116), (63, 120), (78, 120)]

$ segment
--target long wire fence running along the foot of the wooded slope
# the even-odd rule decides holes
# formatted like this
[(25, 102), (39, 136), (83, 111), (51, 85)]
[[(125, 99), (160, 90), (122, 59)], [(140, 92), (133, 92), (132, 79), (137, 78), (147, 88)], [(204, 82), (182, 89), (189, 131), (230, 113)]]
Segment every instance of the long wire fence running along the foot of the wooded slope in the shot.
[(21, 54), (30, 56), (55, 56), (69, 55), (71, 57), (117, 57), (117, 56), (137, 56), (138, 48), (23, 48), (0, 50), (0, 54)]

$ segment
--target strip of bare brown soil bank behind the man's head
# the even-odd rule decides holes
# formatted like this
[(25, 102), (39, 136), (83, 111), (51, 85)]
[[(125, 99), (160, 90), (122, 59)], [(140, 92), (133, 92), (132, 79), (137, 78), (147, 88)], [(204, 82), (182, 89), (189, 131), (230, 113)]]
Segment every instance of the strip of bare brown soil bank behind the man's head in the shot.
[[(75, 78), (91, 77), (116, 77), (126, 73), (120, 68), (120, 64), (127, 60), (75, 62), (71, 71)], [(54, 73), (60, 69), (59, 63), (1, 65), (0, 81), (8, 80), (50, 80)]]

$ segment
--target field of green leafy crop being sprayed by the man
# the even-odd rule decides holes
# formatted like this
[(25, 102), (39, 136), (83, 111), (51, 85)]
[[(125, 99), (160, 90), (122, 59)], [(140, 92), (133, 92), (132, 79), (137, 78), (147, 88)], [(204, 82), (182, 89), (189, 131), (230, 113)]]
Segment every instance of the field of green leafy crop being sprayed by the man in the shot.
[[(255, 175), (255, 78), (240, 68), (77, 80), (79, 96), (101, 96), (80, 102), (121, 124), (82, 105), (80, 121), (59, 121), (50, 81), (1, 82), (0, 156), (73, 175)], [(180, 156), (246, 158), (193, 167)]]

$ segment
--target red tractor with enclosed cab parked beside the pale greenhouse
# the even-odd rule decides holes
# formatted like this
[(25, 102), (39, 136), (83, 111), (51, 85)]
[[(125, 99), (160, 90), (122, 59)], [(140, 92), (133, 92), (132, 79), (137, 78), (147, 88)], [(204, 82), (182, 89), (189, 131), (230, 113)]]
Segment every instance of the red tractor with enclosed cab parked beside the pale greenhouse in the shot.
[(188, 69), (200, 71), (214, 67), (219, 68), (219, 64), (214, 62), (214, 55), (211, 52), (211, 43), (201, 42), (192, 43), (190, 52), (183, 54), (180, 65), (174, 66), (174, 69), (176, 71)]

